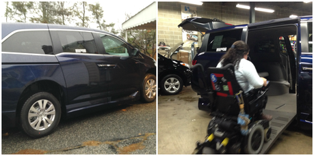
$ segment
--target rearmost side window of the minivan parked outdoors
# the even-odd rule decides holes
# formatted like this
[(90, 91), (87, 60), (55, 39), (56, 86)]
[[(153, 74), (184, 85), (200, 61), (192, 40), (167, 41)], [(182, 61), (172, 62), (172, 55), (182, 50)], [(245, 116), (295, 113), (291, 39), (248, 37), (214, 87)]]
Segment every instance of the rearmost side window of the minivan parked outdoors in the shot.
[(53, 54), (49, 31), (21, 31), (2, 42), (3, 52)]

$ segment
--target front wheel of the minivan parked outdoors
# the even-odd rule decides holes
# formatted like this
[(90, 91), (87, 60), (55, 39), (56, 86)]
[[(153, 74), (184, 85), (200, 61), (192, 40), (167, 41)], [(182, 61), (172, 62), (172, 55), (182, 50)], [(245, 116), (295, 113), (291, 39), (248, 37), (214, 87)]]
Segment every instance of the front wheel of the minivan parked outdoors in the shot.
[(142, 102), (153, 102), (156, 98), (156, 76), (153, 74), (146, 74), (141, 90)]

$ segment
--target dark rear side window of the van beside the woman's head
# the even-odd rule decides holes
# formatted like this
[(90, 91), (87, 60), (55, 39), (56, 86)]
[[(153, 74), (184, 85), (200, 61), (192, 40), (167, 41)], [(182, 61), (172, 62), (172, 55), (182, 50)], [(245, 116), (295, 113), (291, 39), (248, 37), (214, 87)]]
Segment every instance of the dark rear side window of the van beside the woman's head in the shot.
[(207, 51), (226, 51), (234, 42), (241, 40), (241, 33), (242, 29), (211, 33), (209, 35)]

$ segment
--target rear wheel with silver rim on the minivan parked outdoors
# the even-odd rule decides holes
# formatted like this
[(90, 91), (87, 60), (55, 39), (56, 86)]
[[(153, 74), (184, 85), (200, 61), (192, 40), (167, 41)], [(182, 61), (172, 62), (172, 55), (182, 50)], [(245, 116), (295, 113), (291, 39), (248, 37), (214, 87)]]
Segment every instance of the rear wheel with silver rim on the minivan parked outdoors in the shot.
[(61, 106), (51, 93), (31, 95), (23, 104), (20, 116), (21, 129), (32, 138), (51, 134), (61, 118)]

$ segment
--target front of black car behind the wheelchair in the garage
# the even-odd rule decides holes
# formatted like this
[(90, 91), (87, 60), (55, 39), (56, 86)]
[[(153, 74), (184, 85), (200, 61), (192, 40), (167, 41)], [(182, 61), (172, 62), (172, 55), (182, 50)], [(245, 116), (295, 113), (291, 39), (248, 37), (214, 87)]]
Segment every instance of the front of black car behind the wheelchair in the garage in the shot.
[(158, 82), (161, 93), (175, 95), (183, 86), (191, 85), (191, 70), (187, 63), (158, 54)]

